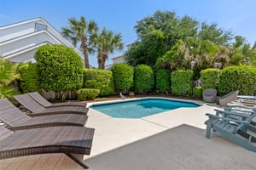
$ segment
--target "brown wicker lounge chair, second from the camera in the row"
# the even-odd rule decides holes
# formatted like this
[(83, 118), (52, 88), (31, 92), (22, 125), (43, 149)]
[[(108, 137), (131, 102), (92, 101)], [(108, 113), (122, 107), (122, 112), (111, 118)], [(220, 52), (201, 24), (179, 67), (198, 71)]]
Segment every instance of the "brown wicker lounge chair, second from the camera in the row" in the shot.
[(85, 115), (59, 114), (49, 116), (31, 117), (22, 113), (8, 99), (0, 99), (0, 120), (8, 125), (9, 129), (53, 127), (53, 126), (79, 126), (83, 127), (87, 121)]

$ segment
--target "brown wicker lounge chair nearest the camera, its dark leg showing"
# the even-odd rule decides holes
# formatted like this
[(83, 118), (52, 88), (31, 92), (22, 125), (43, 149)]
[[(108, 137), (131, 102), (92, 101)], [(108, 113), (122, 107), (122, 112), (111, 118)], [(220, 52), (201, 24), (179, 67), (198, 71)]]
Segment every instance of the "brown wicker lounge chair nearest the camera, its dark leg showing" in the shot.
[(93, 128), (87, 127), (42, 127), (13, 133), (0, 126), (0, 160), (19, 156), (63, 153), (88, 168), (83, 161), (90, 155)]

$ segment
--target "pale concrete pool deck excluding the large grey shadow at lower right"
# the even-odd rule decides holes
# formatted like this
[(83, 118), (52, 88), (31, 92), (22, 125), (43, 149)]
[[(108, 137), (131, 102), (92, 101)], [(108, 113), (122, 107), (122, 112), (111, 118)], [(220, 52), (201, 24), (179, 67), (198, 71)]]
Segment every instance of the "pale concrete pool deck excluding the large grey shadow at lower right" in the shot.
[[(126, 144), (146, 139), (157, 133), (162, 133), (173, 127), (187, 124), (192, 127), (205, 129), (206, 113), (214, 114), (218, 105), (202, 104), (196, 108), (180, 108), (166, 111), (153, 116), (139, 119), (113, 118), (99, 111), (89, 109), (89, 119), (86, 127), (96, 129), (90, 156), (84, 156), (84, 160), (93, 159), (111, 150), (115, 150)], [(239, 147), (239, 146), (238, 146)], [(89, 165), (90, 166), (90, 165)], [(89, 167), (90, 168), (90, 167)], [(0, 161), (0, 169), (83, 169), (67, 156), (61, 154), (49, 154), (38, 156), (23, 156)]]

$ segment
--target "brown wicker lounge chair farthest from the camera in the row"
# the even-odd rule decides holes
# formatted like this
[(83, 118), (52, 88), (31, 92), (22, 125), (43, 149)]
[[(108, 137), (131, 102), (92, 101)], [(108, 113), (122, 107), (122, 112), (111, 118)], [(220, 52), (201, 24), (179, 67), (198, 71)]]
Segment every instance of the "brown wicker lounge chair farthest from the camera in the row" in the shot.
[(47, 99), (44, 99), (44, 97), (39, 94), (38, 92), (32, 92), (28, 93), (32, 97), (32, 99), (36, 100), (38, 104), (47, 107), (60, 107), (60, 106), (79, 106), (79, 107), (86, 107), (86, 103), (81, 102), (62, 102), (62, 103), (50, 103)]

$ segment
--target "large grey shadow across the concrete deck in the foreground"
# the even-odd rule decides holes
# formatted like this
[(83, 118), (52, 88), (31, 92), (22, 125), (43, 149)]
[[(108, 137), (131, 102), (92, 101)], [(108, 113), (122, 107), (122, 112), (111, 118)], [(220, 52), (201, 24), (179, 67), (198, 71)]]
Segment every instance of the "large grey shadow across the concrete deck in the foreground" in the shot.
[(181, 125), (86, 161), (91, 170), (256, 169), (255, 153), (205, 133)]

